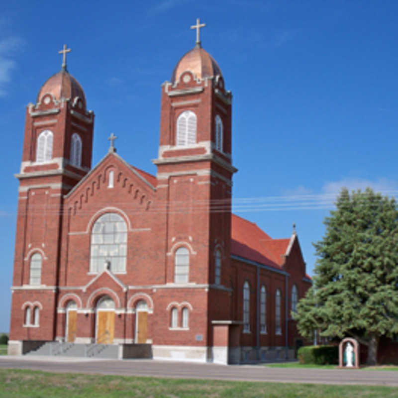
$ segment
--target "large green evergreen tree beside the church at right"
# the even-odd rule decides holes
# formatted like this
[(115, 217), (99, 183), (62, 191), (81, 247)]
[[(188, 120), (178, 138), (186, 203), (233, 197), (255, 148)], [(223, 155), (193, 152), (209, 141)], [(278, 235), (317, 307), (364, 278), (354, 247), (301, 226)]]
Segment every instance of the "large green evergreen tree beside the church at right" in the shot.
[(343, 189), (326, 233), (314, 244), (313, 287), (297, 306), (299, 332), (311, 339), (351, 336), (375, 364), (381, 336), (398, 333), (398, 210), (371, 189)]

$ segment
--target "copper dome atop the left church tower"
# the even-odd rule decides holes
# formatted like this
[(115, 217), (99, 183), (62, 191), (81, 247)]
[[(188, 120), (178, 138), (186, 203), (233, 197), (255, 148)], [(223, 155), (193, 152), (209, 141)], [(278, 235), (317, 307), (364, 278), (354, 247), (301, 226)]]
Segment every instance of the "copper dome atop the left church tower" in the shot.
[(61, 98), (74, 100), (75, 97), (80, 97), (86, 107), (86, 96), (84, 95), (82, 86), (64, 69), (51, 76), (43, 84), (37, 95), (36, 102), (39, 102), (48, 93), (52, 94), (56, 100), (60, 100)]

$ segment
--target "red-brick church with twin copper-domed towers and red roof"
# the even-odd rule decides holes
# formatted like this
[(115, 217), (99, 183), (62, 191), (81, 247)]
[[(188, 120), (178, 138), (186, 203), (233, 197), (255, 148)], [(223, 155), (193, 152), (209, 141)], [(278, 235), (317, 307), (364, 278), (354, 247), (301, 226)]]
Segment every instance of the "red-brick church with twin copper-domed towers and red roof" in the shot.
[(303, 344), (292, 312), (311, 279), (295, 229), (273, 239), (231, 213), (232, 94), (202, 26), (161, 86), (156, 176), (122, 159), (113, 134), (92, 166), (94, 112), (66, 45), (27, 105), (9, 354), (59, 342), (231, 364)]

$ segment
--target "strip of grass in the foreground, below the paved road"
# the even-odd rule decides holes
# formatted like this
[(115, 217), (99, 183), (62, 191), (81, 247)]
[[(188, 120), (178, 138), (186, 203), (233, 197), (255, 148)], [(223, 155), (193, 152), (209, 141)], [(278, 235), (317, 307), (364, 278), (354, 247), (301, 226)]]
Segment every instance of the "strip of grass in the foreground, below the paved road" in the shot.
[(0, 397), (398, 397), (397, 388), (251, 383), (0, 370)]

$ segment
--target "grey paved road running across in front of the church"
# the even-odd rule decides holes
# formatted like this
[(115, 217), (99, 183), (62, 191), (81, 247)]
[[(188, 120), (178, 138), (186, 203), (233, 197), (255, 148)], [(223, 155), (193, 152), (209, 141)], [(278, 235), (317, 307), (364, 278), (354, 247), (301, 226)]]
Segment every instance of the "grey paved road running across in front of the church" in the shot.
[(0, 356), (0, 368), (60, 373), (216, 379), (255, 382), (362, 384), (398, 387), (398, 372), (340, 369), (270, 368), (264, 365), (214, 365), (156, 360)]

